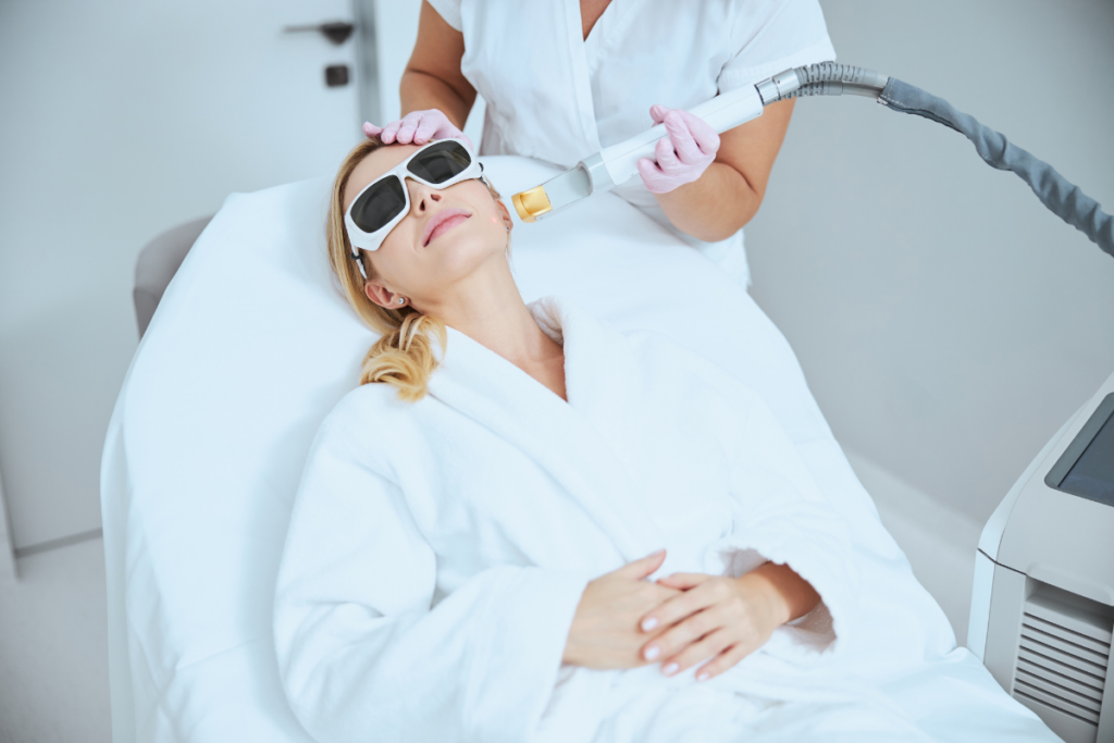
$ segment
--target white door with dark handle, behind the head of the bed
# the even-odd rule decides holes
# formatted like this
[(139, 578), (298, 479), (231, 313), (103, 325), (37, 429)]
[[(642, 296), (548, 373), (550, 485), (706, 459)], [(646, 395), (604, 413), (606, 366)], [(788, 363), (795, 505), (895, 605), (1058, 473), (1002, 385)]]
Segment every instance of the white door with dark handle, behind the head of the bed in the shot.
[(0, 460), (16, 546), (100, 525), (136, 348), (136, 256), (234, 190), (328, 175), (360, 135), (351, 61), (285, 25), (349, 0), (0, 2)]

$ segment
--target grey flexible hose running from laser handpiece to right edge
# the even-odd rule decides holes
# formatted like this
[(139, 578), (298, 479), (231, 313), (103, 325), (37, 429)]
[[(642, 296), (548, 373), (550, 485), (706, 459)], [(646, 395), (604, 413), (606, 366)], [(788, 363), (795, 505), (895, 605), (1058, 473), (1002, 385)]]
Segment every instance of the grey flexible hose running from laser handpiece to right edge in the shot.
[(1053, 214), (1114, 256), (1114, 217), (1103, 212), (1098, 202), (1047, 163), (1015, 147), (1005, 135), (983, 126), (974, 116), (957, 111), (942, 98), (873, 70), (834, 62), (788, 69), (763, 80), (758, 89), (763, 105), (799, 96), (870, 96), (892, 110), (950, 127), (970, 139), (988, 165), (1017, 174)]

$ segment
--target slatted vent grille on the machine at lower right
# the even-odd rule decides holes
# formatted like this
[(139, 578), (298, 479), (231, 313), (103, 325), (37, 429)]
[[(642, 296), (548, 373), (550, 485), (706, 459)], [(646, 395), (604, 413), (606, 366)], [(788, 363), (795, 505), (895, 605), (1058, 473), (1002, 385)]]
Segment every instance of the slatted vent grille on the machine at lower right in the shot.
[(1105, 612), (1088, 612), (1087, 599), (1058, 590), (1054, 597), (1051, 587), (1042, 588), (1025, 602), (1014, 696), (1097, 726), (1111, 656), (1111, 620)]

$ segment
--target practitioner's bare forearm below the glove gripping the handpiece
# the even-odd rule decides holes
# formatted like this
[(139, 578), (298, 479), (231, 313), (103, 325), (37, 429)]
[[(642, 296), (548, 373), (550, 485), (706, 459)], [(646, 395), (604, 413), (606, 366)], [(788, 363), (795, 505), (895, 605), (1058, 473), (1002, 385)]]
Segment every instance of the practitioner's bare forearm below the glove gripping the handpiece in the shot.
[(713, 243), (742, 229), (762, 203), (743, 175), (723, 163), (712, 163), (696, 180), (655, 196), (677, 229)]

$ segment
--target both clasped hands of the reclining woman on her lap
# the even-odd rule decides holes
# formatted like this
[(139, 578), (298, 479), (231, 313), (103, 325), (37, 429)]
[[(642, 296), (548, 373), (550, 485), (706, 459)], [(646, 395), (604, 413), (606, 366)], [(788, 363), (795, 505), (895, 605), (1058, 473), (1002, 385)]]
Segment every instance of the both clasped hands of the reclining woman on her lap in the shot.
[(788, 620), (788, 607), (761, 576), (676, 573), (645, 580), (665, 550), (588, 583), (573, 619), (564, 662), (634, 668), (661, 662), (674, 675), (709, 658), (705, 681), (760, 648)]

